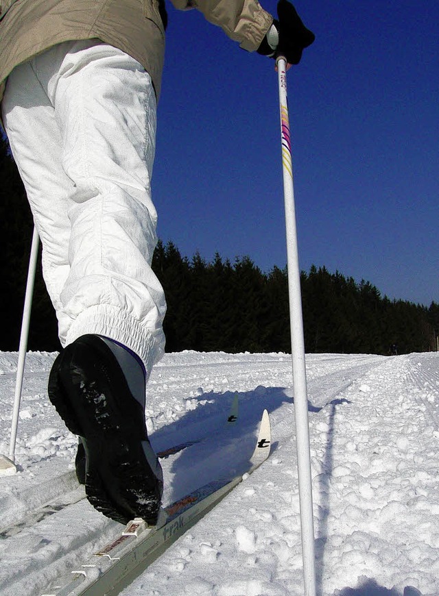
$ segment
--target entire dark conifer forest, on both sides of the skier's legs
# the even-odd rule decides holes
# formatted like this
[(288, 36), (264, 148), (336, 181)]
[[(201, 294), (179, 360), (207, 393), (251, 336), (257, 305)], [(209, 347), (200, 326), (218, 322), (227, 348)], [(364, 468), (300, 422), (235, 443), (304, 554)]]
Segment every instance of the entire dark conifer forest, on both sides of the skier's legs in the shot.
[[(0, 139), (0, 350), (19, 345), (32, 216), (7, 142)], [(40, 260), (39, 260), (40, 263)], [(182, 256), (159, 241), (152, 268), (167, 298), (167, 351), (272, 352), (291, 350), (287, 271), (263, 273), (250, 257), (208, 262)], [(398, 353), (436, 349), (439, 305), (381, 297), (370, 282), (356, 282), (324, 266), (300, 275), (307, 353)], [(57, 321), (40, 264), (36, 275), (29, 349), (60, 349)]]

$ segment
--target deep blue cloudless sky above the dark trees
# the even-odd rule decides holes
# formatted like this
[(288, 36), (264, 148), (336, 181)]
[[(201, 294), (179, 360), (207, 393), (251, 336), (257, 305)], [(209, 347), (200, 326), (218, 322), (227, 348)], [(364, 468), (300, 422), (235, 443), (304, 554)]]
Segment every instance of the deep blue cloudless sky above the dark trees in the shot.
[[(272, 14), (274, 0), (264, 0)], [(300, 0), (316, 34), (288, 73), (301, 269), (439, 301), (439, 3)], [(153, 192), (181, 253), (285, 266), (277, 75), (169, 3)]]

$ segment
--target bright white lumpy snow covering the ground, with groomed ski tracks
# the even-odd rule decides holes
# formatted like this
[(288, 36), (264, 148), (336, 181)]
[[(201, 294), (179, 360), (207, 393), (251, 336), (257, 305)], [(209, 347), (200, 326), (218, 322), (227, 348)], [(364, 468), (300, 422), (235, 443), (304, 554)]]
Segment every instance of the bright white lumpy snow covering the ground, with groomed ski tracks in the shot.
[[(55, 357), (27, 356), (19, 471), (0, 477), (4, 596), (44, 593), (121, 528), (78, 500), (76, 438), (47, 398)], [(16, 353), (0, 353), (5, 455), (16, 362)], [(439, 354), (311, 355), (307, 380), (318, 595), (438, 596)], [(239, 421), (224, 430), (235, 394)], [(146, 406), (154, 447), (207, 437), (163, 460), (165, 504), (239, 471), (264, 408), (272, 454), (123, 596), (303, 595), (293, 396), (291, 357), (281, 353), (187, 351), (156, 366)], [(73, 504), (19, 525), (54, 501)]]

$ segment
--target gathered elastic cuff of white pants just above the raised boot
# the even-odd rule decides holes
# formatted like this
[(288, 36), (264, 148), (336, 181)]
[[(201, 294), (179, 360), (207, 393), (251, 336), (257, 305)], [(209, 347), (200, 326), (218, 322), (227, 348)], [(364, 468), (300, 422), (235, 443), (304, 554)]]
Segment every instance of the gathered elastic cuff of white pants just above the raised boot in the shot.
[(96, 334), (114, 339), (128, 347), (141, 358), (147, 377), (152, 366), (163, 356), (164, 350), (151, 332), (128, 312), (110, 304), (97, 304), (84, 310), (73, 321), (65, 345), (86, 334)]

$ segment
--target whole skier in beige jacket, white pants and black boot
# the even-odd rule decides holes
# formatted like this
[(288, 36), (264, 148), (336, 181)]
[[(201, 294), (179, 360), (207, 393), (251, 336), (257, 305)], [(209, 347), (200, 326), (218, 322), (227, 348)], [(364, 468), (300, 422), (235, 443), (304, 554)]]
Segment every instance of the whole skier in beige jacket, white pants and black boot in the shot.
[[(314, 39), (287, 0), (172, 0), (247, 51), (289, 65)], [(145, 384), (163, 355), (163, 289), (151, 270), (150, 179), (164, 0), (1, 0), (2, 124), (43, 244), (62, 351), (49, 399), (85, 451), (88, 500), (155, 524), (163, 475)], [(81, 475), (81, 474), (80, 474)]]

